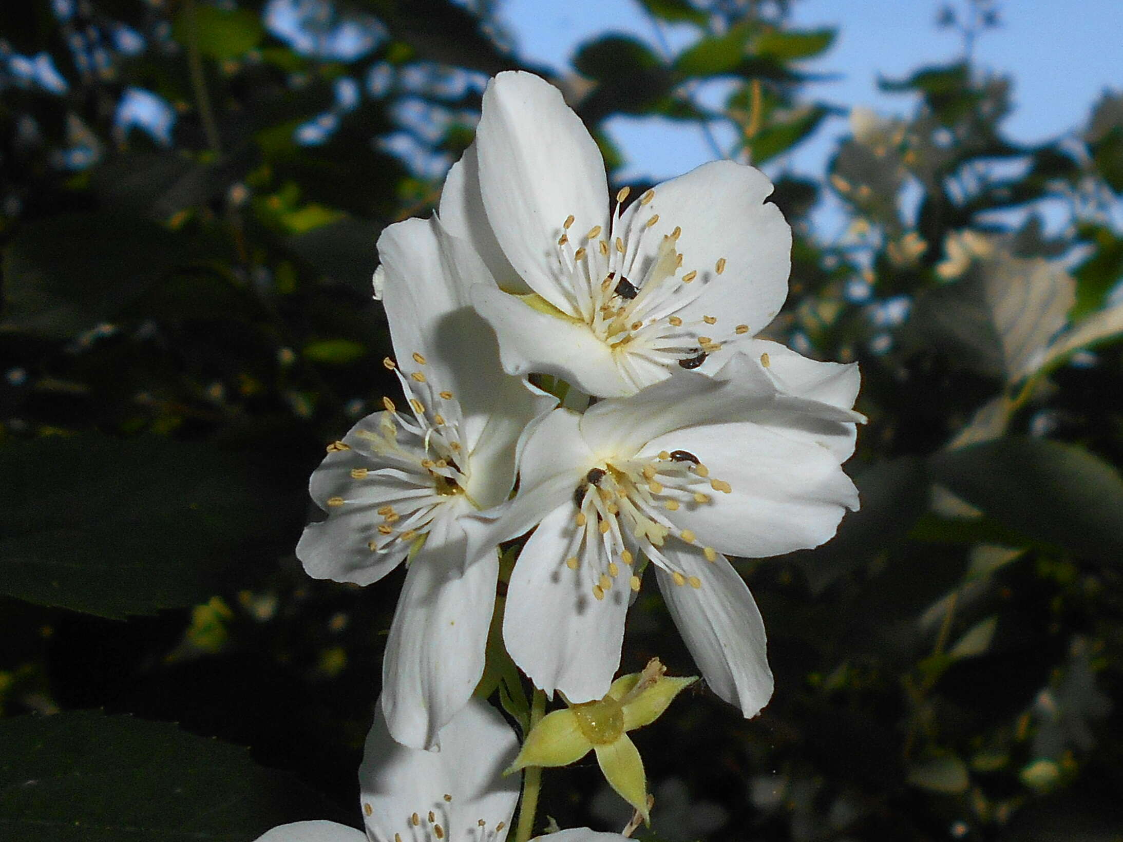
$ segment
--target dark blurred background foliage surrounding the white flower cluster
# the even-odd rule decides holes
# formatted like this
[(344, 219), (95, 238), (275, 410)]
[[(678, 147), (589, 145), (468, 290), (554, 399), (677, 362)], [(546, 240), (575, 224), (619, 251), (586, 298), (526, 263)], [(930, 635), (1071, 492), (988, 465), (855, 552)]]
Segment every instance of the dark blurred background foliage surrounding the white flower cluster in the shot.
[[(264, 6), (0, 4), (4, 839), (358, 821), (401, 574), (308, 579), (305, 483), (392, 392), (377, 232), (431, 211), (486, 76), (526, 65), (484, 3), (319, 3), (310, 46)], [(612, 115), (727, 121), (730, 154), (767, 163), (837, 110), (804, 92), (834, 33), (785, 3), (645, 6), (696, 43), (667, 60), (606, 34), (579, 79), (529, 67), (611, 167)], [(374, 34), (357, 55), (344, 25)], [(693, 97), (713, 79), (720, 111)], [(862, 510), (740, 562), (776, 695), (746, 722), (697, 688), (637, 735), (649, 839), (1120, 838), (1123, 99), (1021, 146), (1011, 82), (967, 60), (885, 80), (910, 119), (855, 116), (821, 179), (778, 170), (796, 242), (769, 336), (860, 361)], [(133, 89), (171, 104), (166, 143), (122, 128)], [(827, 193), (837, 241), (809, 223)], [(693, 671), (646, 589), (623, 667), (655, 655)], [(562, 826), (626, 821), (588, 763), (548, 771), (545, 799)]]

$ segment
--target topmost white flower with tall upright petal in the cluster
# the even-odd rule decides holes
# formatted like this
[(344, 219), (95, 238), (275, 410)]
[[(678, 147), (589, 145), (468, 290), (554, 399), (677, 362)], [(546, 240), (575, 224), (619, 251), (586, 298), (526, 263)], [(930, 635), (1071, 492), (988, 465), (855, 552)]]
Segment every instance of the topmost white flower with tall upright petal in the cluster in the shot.
[[(758, 170), (704, 164), (610, 213), (604, 162), (562, 94), (530, 73), (487, 85), (440, 216), (500, 287), (473, 291), (511, 374), (605, 397), (716, 370), (779, 311), (792, 232)], [(712, 358), (712, 359), (711, 359)]]

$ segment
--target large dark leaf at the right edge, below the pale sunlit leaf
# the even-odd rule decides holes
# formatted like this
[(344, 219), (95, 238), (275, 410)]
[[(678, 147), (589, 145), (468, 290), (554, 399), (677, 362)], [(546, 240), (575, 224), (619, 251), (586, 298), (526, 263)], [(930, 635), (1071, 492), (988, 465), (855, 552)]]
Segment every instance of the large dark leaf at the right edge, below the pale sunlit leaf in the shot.
[(1006, 438), (935, 454), (930, 465), (937, 482), (1028, 538), (1123, 560), (1123, 479), (1086, 450)]

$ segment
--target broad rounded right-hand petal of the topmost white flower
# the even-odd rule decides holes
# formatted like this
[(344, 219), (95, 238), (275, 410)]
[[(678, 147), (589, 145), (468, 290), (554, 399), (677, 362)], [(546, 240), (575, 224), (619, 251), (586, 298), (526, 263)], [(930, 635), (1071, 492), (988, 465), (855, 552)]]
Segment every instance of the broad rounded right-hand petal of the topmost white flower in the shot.
[[(714, 161), (658, 184), (646, 205), (633, 202), (624, 213), (629, 242), (637, 241), (652, 214), (659, 221), (643, 232), (640, 266), (654, 262), (663, 235), (682, 228), (677, 248), (683, 272), (696, 271), (701, 296), (678, 313), (691, 321), (718, 318), (713, 336), (748, 324), (751, 336), (773, 320), (787, 298), (792, 267), (792, 229), (775, 204), (768, 177), (751, 166)], [(630, 249), (629, 249), (630, 250)], [(719, 275), (718, 262), (724, 258)], [(642, 277), (632, 269), (630, 277)]]

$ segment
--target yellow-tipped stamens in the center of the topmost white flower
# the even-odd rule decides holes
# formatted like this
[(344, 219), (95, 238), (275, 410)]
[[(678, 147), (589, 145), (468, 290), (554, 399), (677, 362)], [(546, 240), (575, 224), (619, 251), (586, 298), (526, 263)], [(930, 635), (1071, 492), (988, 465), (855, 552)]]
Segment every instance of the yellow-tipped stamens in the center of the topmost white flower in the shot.
[(628, 187), (617, 193), (608, 232), (595, 226), (583, 237), (570, 238), (574, 217), (566, 218), (557, 257), (559, 272), (568, 282), (565, 287), (572, 291), (569, 315), (588, 324), (612, 349), (624, 376), (641, 388), (661, 379), (658, 368), (697, 368), (724, 342), (748, 333), (749, 327), (738, 324), (724, 331), (728, 336), (715, 339), (716, 315), (682, 315), (706, 284), (725, 271), (725, 258), (705, 277), (700, 277), (697, 269), (684, 271), (684, 256), (677, 250), (682, 228), (677, 226), (661, 235), (651, 257), (650, 249), (640, 246), (645, 239), (660, 236), (655, 231), (659, 214), (651, 205), (655, 190), (639, 198), (636, 216), (623, 226), (620, 209), (628, 193)]

